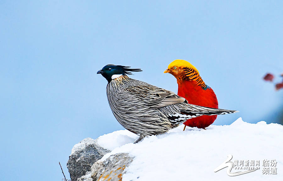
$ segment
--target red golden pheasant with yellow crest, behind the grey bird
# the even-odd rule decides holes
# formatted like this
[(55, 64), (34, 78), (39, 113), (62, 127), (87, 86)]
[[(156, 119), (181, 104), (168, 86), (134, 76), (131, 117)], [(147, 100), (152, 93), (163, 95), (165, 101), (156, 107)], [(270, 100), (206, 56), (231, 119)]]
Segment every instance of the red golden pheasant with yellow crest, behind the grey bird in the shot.
[[(178, 96), (184, 97), (189, 104), (218, 108), (218, 101), (214, 91), (204, 83), (198, 70), (185, 60), (174, 60), (168, 65), (164, 73), (174, 75), (178, 83)], [(205, 129), (214, 122), (217, 115), (200, 116), (188, 119), (186, 126)]]

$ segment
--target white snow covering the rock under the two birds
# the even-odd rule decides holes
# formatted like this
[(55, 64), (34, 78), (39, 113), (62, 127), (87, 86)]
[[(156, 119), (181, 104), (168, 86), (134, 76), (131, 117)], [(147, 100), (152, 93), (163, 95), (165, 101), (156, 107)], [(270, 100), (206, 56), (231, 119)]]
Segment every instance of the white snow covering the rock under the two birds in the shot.
[[(211, 125), (207, 130), (184, 126), (166, 134), (138, 138), (127, 130), (105, 134), (97, 139), (99, 145), (112, 150), (101, 161), (119, 152), (134, 156), (125, 169), (123, 181), (149, 180), (283, 180), (283, 126), (243, 122), (238, 118), (231, 125)], [(260, 169), (230, 177), (227, 167), (214, 173), (227, 155), (234, 160), (260, 160)], [(277, 175), (263, 175), (262, 161), (276, 159)], [(232, 173), (244, 170), (232, 170)]]

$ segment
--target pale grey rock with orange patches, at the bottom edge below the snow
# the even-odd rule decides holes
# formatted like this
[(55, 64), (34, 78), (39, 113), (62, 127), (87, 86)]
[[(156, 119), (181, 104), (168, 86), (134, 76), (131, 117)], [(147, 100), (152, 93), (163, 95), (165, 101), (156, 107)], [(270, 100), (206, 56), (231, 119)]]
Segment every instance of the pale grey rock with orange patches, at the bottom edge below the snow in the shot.
[(109, 180), (121, 181), (125, 173), (124, 169), (130, 165), (133, 157), (128, 153), (117, 153), (109, 156), (105, 161), (97, 161), (91, 167), (93, 181)]

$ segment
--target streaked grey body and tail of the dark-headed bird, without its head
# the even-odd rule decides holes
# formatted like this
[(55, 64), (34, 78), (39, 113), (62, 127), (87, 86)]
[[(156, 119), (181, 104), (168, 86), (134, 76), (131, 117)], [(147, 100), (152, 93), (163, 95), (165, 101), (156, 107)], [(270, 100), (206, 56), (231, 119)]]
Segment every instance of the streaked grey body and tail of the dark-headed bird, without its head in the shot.
[(121, 75), (107, 85), (107, 98), (118, 122), (140, 135), (167, 132), (187, 119), (202, 115), (228, 114), (236, 111), (188, 104), (185, 98), (145, 82)]

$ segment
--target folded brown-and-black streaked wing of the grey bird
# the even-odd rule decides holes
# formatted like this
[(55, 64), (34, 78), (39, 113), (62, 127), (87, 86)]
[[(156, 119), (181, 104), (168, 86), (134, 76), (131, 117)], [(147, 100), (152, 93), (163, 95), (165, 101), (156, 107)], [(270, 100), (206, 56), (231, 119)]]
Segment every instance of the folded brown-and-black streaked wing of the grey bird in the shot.
[(176, 95), (174, 92), (142, 81), (138, 81), (138, 84), (135, 84), (135, 86), (128, 86), (125, 90), (137, 96), (140, 100), (145, 102), (148, 107), (152, 108), (165, 107), (186, 101), (185, 98)]

